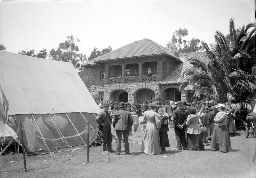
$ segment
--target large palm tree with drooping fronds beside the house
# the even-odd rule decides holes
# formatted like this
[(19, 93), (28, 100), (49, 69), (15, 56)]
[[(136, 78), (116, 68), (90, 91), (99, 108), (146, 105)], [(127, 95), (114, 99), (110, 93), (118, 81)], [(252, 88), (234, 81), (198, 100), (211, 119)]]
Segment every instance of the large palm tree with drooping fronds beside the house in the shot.
[[(251, 32), (248, 30), (254, 27)], [(252, 110), (250, 99), (256, 90), (256, 78), (252, 75), (255, 67), (255, 24), (249, 23), (238, 32), (234, 19), (229, 22), (229, 40), (216, 31), (215, 43), (208, 46), (202, 42), (207, 59), (188, 59), (197, 68), (183, 73), (185, 82), (180, 86), (192, 86), (197, 98), (214, 99), (217, 102), (242, 102), (244, 108)], [(254, 102), (255, 103), (255, 102)]]

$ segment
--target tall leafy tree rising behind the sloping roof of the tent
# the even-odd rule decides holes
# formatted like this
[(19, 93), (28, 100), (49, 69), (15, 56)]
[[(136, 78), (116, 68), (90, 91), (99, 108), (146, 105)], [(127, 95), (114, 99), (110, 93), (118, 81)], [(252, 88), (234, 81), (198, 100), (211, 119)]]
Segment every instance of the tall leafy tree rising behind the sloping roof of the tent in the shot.
[(72, 62), (74, 68), (80, 70), (81, 64), (86, 61), (86, 56), (82, 53), (78, 53), (79, 48), (76, 42), (80, 39), (73, 38), (73, 35), (67, 36), (67, 40), (59, 44), (57, 50), (52, 49), (50, 51), (49, 58), (56, 61)]

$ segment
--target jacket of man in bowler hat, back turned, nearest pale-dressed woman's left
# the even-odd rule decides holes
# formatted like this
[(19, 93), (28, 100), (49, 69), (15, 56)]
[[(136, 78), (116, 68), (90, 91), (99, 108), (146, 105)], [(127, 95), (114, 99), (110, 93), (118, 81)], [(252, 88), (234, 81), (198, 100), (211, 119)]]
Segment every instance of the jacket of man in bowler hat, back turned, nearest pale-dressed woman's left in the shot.
[(115, 131), (132, 131), (132, 115), (131, 112), (121, 108), (114, 113), (113, 127)]

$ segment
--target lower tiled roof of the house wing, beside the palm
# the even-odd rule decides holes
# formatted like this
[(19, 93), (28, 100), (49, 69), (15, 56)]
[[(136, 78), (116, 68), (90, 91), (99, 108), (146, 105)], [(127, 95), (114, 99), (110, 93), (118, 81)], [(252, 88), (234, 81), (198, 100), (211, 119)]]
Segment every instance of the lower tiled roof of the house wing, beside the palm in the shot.
[(173, 84), (184, 82), (184, 78), (181, 78), (180, 76), (185, 72), (186, 69), (193, 67), (188, 59), (195, 56), (207, 59), (205, 51), (194, 53), (180, 53), (180, 59), (184, 62), (178, 63), (176, 66), (174, 66), (171, 72), (161, 82), (159, 82), (159, 84)]

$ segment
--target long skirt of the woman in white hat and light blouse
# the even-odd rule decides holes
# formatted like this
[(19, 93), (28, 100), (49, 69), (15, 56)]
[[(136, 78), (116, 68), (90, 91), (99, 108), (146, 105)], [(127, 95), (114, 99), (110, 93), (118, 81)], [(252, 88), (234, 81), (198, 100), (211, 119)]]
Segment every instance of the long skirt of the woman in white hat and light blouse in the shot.
[(222, 152), (232, 152), (227, 125), (215, 125), (210, 148), (220, 149)]

